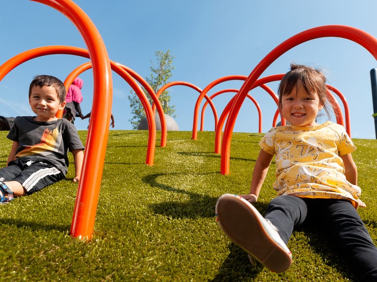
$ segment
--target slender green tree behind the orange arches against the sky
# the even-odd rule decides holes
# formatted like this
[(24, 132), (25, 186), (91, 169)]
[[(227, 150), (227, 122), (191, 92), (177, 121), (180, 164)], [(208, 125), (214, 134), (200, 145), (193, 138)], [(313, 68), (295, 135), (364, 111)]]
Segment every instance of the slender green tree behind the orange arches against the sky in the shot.
[[(170, 54), (170, 50), (167, 50), (165, 53), (162, 51), (156, 51), (156, 65), (151, 62), (150, 70), (151, 74), (150, 77), (146, 77), (145, 81), (151, 86), (151, 88), (157, 93), (157, 91), (166, 83), (168, 83), (169, 78), (173, 75), (172, 70), (174, 66), (172, 66), (172, 62), (174, 56)], [(143, 91), (148, 97), (149, 103), (152, 105), (153, 101), (150, 98), (147, 91), (143, 88)], [(175, 106), (171, 106), (170, 103), (170, 95), (169, 90), (165, 90), (161, 96), (159, 97), (160, 103), (162, 105), (163, 112), (171, 117), (176, 117), (175, 115)], [(131, 123), (133, 129), (137, 129), (140, 121), (145, 117), (145, 111), (143, 108), (142, 103), (140, 102), (136, 93), (131, 90), (130, 95), (128, 95), (129, 106), (131, 108), (132, 118), (128, 121)]]

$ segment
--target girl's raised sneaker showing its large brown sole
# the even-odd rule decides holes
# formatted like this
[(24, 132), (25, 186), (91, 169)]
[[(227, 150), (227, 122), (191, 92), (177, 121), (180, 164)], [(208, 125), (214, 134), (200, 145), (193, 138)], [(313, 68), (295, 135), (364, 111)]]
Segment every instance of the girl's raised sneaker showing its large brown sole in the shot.
[(216, 220), (221, 229), (249, 259), (254, 257), (273, 272), (284, 272), (292, 263), (292, 253), (276, 227), (241, 196), (222, 195), (216, 203)]

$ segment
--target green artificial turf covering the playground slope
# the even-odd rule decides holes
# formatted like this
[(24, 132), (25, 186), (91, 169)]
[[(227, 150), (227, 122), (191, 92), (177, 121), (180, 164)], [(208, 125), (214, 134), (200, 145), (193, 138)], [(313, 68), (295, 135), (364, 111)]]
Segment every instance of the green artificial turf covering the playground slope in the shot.
[[(87, 132), (79, 134), (85, 141)], [(0, 166), (11, 148), (5, 136), (0, 132)], [(261, 136), (233, 133), (224, 176), (213, 132), (199, 132), (197, 140), (169, 132), (167, 147), (156, 147), (154, 166), (146, 166), (146, 131), (110, 131), (92, 240), (69, 234), (72, 165), (67, 180), (0, 206), (0, 281), (352, 281), (321, 231), (295, 231), (292, 266), (277, 274), (252, 266), (218, 227), (216, 199), (249, 191)], [(377, 244), (377, 140), (354, 142), (367, 204), (359, 214)], [(273, 180), (274, 164), (255, 203), (262, 214), (275, 197)]]

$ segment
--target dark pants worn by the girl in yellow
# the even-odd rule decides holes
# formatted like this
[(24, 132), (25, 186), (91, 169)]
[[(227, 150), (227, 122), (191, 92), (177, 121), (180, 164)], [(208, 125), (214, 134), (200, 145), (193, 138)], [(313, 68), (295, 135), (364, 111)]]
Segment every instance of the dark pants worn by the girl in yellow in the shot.
[(278, 196), (269, 203), (265, 218), (285, 243), (306, 219), (323, 223), (354, 275), (360, 281), (377, 281), (377, 247), (350, 201)]

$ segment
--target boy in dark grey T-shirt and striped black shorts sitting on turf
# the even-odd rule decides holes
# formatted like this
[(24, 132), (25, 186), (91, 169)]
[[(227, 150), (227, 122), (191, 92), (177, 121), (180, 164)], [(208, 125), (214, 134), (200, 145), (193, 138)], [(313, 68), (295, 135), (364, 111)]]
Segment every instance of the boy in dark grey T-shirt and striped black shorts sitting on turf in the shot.
[(13, 141), (7, 166), (0, 169), (0, 203), (30, 195), (65, 178), (67, 152), (73, 154), (75, 177), (80, 181), (84, 146), (76, 128), (55, 114), (65, 102), (64, 84), (49, 75), (34, 78), (29, 104), (36, 116), (18, 116), (7, 135)]

